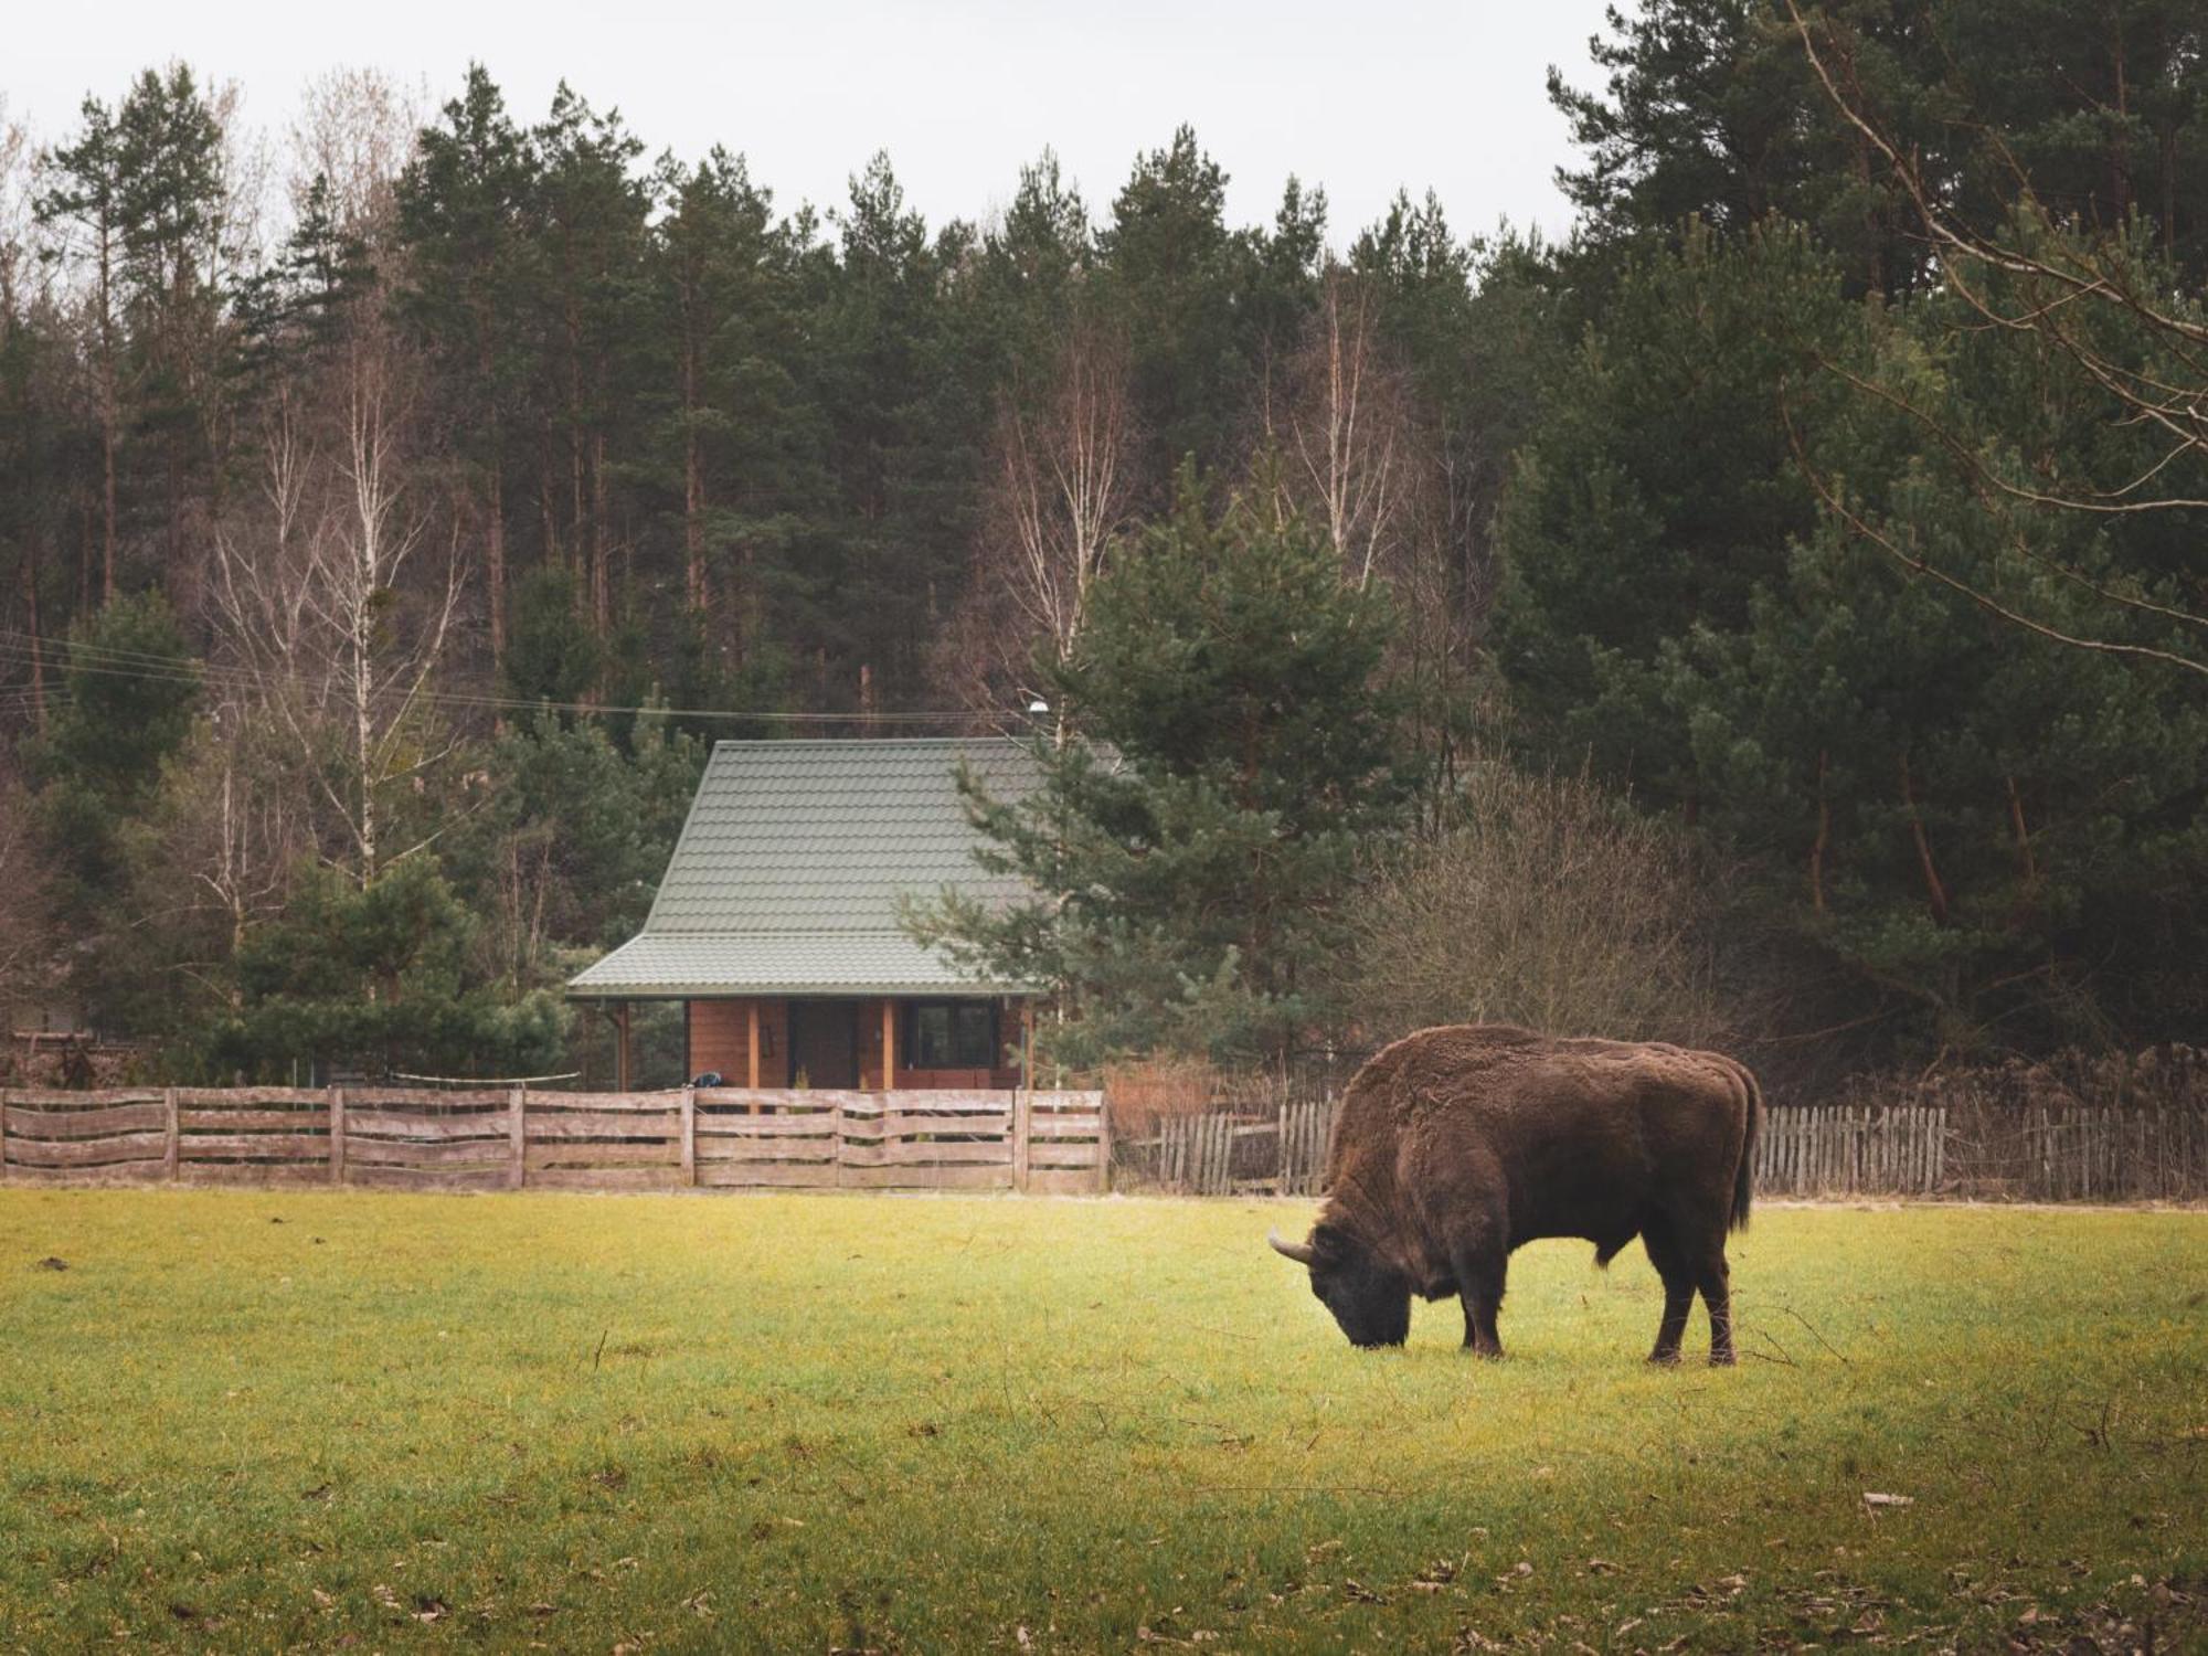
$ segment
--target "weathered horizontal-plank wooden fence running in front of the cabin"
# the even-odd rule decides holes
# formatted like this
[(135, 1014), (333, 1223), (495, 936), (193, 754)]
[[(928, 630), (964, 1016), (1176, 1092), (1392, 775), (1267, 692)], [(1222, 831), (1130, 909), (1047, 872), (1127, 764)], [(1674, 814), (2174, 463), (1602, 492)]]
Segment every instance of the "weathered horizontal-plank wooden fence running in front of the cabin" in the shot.
[(1108, 1175), (1102, 1093), (0, 1091), (9, 1183), (1093, 1192)]

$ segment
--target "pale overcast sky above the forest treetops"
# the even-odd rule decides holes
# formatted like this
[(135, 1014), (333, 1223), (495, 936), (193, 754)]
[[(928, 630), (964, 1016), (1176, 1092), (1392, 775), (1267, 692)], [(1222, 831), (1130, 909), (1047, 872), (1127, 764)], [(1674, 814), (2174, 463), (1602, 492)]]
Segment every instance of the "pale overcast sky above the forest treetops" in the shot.
[(470, 57), (517, 119), (565, 77), (658, 152), (724, 144), (782, 205), (832, 205), (888, 148), (941, 223), (985, 219), (1053, 146), (1104, 216), (1137, 150), (1190, 121), (1228, 170), (1236, 223), (1267, 219), (1289, 172), (1327, 190), (1340, 245), (1398, 185), (1440, 192), (1457, 230), (1561, 230), (1570, 159), (1543, 75), (1594, 79), (1601, 0), (22, 0), (0, 57), (15, 119), (53, 139), (84, 93), (115, 99), (183, 57), (245, 88), (280, 132), (298, 88), (373, 64), (442, 104)]

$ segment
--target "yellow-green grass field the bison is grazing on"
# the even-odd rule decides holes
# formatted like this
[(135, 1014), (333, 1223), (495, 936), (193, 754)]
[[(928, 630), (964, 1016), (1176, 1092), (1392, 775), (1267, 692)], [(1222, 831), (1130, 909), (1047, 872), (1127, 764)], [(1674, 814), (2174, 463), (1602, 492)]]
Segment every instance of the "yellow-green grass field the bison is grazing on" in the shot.
[(1769, 1208), (1658, 1371), (1563, 1243), (1351, 1351), (1309, 1212), (0, 1190), (0, 1645), (2208, 1647), (2208, 1214)]

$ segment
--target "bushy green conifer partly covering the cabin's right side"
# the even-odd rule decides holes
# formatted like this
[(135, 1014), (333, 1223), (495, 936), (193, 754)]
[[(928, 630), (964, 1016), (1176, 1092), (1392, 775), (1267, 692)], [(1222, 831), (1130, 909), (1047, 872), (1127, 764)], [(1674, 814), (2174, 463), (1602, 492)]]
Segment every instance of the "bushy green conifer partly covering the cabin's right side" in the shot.
[(1389, 612), (1263, 484), (1214, 510), (1183, 470), (1170, 517), (1115, 559), (1071, 660), (1062, 724), (1020, 802), (963, 786), (983, 863), (1033, 896), (945, 892), (914, 936), (1049, 985), (1049, 1055), (1281, 1060), (1336, 1007), (1325, 963), (1360, 854), (1406, 790), (1382, 687)]

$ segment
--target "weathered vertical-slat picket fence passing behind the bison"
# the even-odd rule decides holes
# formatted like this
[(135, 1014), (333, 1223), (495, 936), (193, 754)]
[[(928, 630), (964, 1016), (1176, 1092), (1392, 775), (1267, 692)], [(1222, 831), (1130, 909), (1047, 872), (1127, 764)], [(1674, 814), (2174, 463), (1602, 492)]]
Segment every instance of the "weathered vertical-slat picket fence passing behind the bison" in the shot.
[[(1945, 1097), (1766, 1108), (1755, 1139), (1755, 1190), (1987, 1201), (2208, 1197), (2201, 1108)], [(1318, 1195), (1336, 1111), (1329, 1097), (1272, 1113), (1164, 1117), (1148, 1137), (1117, 1144), (1119, 1183), (1192, 1197)]]

